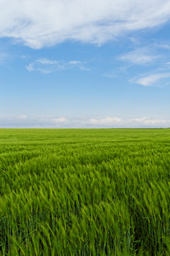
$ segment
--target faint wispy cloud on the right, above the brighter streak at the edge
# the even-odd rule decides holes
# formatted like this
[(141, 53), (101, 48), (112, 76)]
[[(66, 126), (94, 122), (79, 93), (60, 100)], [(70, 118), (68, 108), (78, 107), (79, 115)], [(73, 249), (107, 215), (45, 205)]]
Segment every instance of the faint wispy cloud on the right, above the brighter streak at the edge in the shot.
[(150, 55), (149, 49), (135, 49), (119, 57), (121, 61), (131, 62), (133, 64), (146, 64), (156, 60), (159, 56)]

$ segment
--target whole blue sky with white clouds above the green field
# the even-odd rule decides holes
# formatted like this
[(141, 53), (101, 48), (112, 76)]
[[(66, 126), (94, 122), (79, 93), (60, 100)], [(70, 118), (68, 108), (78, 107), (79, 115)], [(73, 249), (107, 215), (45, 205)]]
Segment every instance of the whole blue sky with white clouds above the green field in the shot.
[(169, 0), (0, 0), (0, 128), (170, 127)]

